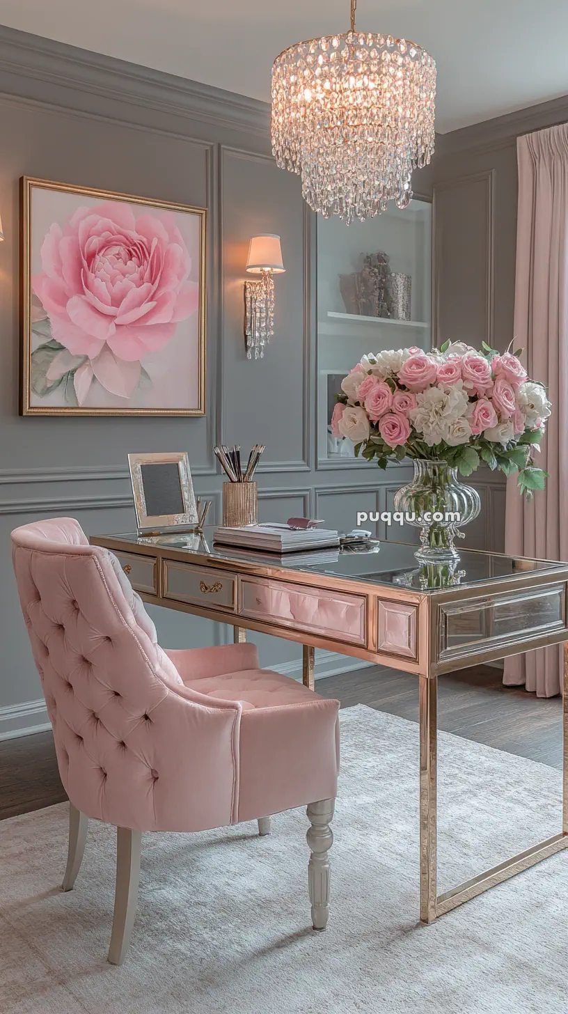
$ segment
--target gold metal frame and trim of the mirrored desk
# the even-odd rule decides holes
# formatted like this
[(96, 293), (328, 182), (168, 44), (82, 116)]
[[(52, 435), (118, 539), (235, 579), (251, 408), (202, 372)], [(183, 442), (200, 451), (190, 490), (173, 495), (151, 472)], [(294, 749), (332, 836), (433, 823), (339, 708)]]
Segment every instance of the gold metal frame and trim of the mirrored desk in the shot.
[[(473, 897), (502, 883), (509, 877), (568, 849), (568, 564), (554, 562), (554, 566), (546, 571), (535, 572), (519, 569), (514, 577), (487, 578), (475, 585), (457, 585), (452, 588), (439, 589), (434, 592), (421, 593), (403, 586), (373, 583), (357, 578), (342, 578), (331, 574), (298, 573), (285, 566), (259, 564), (246, 560), (218, 560), (211, 558), (205, 552), (175, 550), (163, 546), (137, 545), (120, 536), (97, 535), (91, 538), (94, 546), (103, 546), (116, 553), (129, 553), (131, 556), (152, 557), (156, 566), (157, 594), (141, 592), (141, 597), (154, 605), (173, 608), (194, 615), (215, 620), (219, 623), (233, 623), (233, 638), (235, 642), (246, 639), (246, 631), (254, 630), (273, 637), (281, 637), (288, 641), (302, 644), (302, 679), (305, 685), (313, 686), (314, 648), (325, 648), (344, 655), (354, 656), (364, 661), (374, 662), (388, 668), (402, 669), (414, 673), (419, 684), (419, 725), (420, 725), (420, 919), (424, 924), (433, 923), (440, 916), (464, 904)], [(478, 552), (483, 551), (468, 551)], [(491, 554), (502, 556), (503, 554)], [(305, 643), (306, 632), (295, 631), (291, 627), (283, 627), (267, 619), (266, 622), (252, 620), (242, 614), (233, 614), (229, 619), (227, 610), (212, 603), (198, 604), (182, 602), (162, 597), (163, 572), (165, 562), (188, 563), (191, 558), (196, 568), (210, 571), (226, 571), (234, 580), (239, 576), (266, 578), (271, 581), (282, 581), (287, 584), (310, 585), (322, 589), (331, 588), (335, 591), (347, 591), (364, 595), (366, 599), (367, 640), (366, 646), (342, 641), (341, 638), (325, 637), (308, 634), (308, 644)], [(519, 561), (521, 558), (518, 558)], [(522, 558), (524, 559), (524, 558)], [(538, 562), (538, 561), (537, 561)], [(547, 563), (547, 561), (543, 561)], [(537, 636), (522, 637), (521, 631), (511, 635), (508, 643), (492, 645), (485, 650), (472, 651), (470, 654), (447, 660), (439, 660), (438, 623), (439, 606), (446, 602), (457, 602), (466, 599), (483, 599), (498, 596), (503, 592), (513, 593), (536, 590), (546, 585), (559, 582), (565, 584), (564, 594), (564, 627), (552, 631), (544, 631)], [(237, 582), (238, 583), (238, 582)], [(417, 606), (417, 659), (412, 660), (400, 655), (378, 652), (377, 647), (377, 602), (378, 599), (392, 602), (405, 602)], [(564, 645), (563, 667), (563, 802), (562, 830), (531, 846), (499, 863), (497, 866), (477, 874), (471, 879), (443, 894), (437, 893), (437, 700), (438, 674), (449, 672), (456, 664), (460, 668), (479, 665), (484, 662), (505, 658), (509, 655), (531, 651), (535, 648), (548, 645)]]

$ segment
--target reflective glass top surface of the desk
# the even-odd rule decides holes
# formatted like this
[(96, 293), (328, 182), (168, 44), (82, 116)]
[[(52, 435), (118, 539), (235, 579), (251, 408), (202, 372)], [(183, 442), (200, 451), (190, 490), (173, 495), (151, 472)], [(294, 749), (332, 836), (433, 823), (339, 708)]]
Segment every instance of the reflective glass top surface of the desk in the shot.
[[(502, 581), (530, 571), (535, 575), (548, 570), (558, 570), (568, 564), (553, 561), (527, 560), (462, 550), (459, 558), (443, 564), (420, 563), (414, 556), (417, 547), (406, 542), (383, 542), (369, 539), (365, 544), (343, 549), (314, 550), (311, 552), (256, 553), (228, 546), (213, 545), (213, 528), (206, 528), (203, 537), (194, 533), (168, 533), (163, 535), (137, 535), (135, 532), (100, 535), (102, 539), (117, 539), (123, 544), (140, 547), (155, 546), (160, 550), (186, 552), (188, 556), (208, 558), (226, 564), (244, 563), (252, 566), (284, 568), (305, 574), (326, 574), (331, 577), (368, 581), (372, 584), (398, 585), (416, 591), (437, 591), (440, 588), (473, 586), (492, 579)], [(96, 540), (97, 536), (94, 536)], [(126, 549), (126, 546), (125, 546)]]

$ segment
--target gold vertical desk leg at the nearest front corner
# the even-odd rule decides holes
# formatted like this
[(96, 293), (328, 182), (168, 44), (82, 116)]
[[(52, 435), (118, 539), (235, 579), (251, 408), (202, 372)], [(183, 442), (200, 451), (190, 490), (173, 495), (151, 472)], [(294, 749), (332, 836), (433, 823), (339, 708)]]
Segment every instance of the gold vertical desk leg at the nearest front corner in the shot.
[(420, 920), (436, 918), (436, 739), (438, 677), (420, 680)]

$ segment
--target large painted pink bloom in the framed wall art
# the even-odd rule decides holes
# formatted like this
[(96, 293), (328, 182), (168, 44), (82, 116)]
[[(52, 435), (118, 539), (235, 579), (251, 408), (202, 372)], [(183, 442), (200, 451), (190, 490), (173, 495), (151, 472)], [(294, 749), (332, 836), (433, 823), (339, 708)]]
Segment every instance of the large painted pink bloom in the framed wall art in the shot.
[(135, 216), (123, 201), (78, 208), (63, 230), (52, 225), (42, 267), (32, 287), (54, 339), (73, 356), (88, 356), (114, 393), (130, 396), (138, 383), (139, 365), (124, 363), (158, 352), (198, 308), (190, 256), (168, 212)]

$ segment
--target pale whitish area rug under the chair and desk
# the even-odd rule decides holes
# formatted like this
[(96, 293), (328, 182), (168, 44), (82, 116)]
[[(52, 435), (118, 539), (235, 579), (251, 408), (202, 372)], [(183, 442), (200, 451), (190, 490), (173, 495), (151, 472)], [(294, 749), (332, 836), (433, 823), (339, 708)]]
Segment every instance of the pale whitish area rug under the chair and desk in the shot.
[[(440, 734), (443, 890), (559, 829), (561, 777)], [(67, 806), (0, 823), (2, 1014), (544, 1014), (568, 1008), (568, 853), (418, 923), (418, 726), (342, 712), (333, 909), (309, 928), (306, 819), (147, 835), (138, 917), (105, 962), (115, 839), (62, 894)]]

